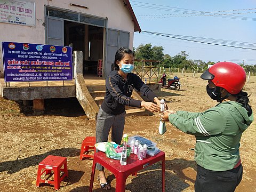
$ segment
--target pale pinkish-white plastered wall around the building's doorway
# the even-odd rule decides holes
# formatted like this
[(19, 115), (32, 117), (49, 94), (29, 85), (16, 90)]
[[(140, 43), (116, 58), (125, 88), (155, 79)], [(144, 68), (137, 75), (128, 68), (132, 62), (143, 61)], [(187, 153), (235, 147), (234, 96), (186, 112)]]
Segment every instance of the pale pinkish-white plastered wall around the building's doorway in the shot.
[[(33, 2), (33, 0), (30, 0)], [(122, 0), (34, 0), (36, 27), (0, 22), (0, 42), (24, 42), (45, 44), (44, 5), (108, 18), (108, 28), (130, 32), (130, 49), (133, 48), (134, 22)], [(87, 6), (89, 9), (71, 6), (70, 3)], [(2, 46), (0, 46), (0, 77), (3, 73)], [(2, 74), (3, 75), (3, 74)]]

